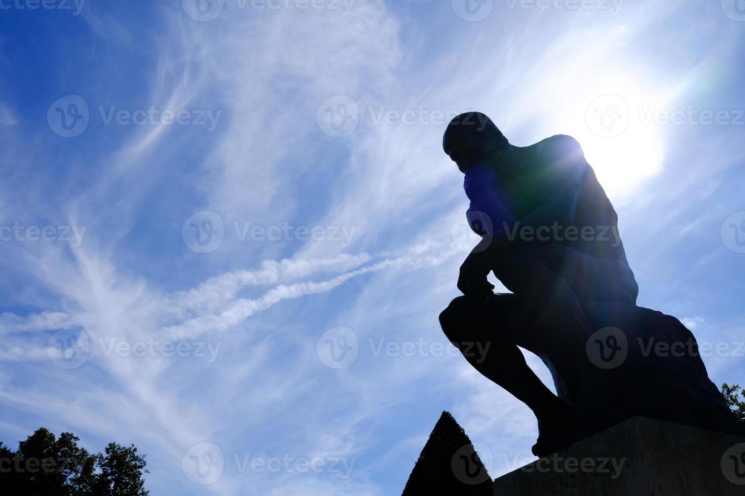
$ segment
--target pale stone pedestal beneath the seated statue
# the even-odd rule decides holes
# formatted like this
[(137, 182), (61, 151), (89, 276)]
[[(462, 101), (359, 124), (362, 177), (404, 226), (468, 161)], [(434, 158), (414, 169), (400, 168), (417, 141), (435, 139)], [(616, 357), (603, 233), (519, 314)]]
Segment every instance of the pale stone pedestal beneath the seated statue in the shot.
[(745, 437), (634, 417), (494, 481), (495, 496), (745, 495)]

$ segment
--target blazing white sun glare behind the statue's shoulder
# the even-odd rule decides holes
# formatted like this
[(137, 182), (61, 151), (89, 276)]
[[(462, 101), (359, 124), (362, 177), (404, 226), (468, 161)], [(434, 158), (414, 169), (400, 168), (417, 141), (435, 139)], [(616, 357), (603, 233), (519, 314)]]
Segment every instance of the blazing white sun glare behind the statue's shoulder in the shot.
[(576, 138), (600, 184), (617, 199), (662, 172), (665, 140), (650, 116), (668, 106), (676, 88), (644, 77), (615, 48), (613, 40), (624, 39), (625, 28), (614, 33), (560, 67), (547, 59), (545, 73), (551, 77), (539, 79), (530, 101), (521, 103), (541, 111), (548, 125), (544, 135)]

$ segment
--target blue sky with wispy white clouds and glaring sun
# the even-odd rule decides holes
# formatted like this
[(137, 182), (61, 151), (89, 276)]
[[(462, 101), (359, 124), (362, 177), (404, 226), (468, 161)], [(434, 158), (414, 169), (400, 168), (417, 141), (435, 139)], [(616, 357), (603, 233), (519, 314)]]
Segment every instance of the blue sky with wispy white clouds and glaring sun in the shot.
[(152, 495), (387, 495), (449, 410), (492, 476), (532, 460), (437, 323), (468, 110), (577, 138), (638, 303), (745, 384), (741, 0), (198, 1), (0, 1), (5, 444), (133, 442)]

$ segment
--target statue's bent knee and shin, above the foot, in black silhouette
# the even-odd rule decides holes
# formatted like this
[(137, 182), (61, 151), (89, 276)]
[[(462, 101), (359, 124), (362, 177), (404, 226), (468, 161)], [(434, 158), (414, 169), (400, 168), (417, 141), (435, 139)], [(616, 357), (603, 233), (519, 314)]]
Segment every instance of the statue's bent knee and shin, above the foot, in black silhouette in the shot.
[(524, 402), (541, 422), (565, 408), (527, 366), (522, 352), (501, 332), (513, 326), (514, 295), (496, 295), (490, 300), (457, 297), (440, 314), (448, 339), (469, 363), (490, 381)]

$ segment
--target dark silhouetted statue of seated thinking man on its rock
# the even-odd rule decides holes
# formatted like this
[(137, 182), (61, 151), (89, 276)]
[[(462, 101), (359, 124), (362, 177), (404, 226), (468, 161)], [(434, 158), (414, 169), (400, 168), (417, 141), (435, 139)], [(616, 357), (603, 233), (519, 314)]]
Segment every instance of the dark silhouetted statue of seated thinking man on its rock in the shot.
[[(745, 432), (691, 332), (636, 306), (618, 216), (574, 138), (514, 146), (489, 117), (468, 112), (448, 124), (443, 149), (465, 175), (467, 218), (482, 240), (460, 267), (463, 296), (440, 323), (473, 367), (536, 414), (534, 454), (635, 415)], [(490, 271), (511, 294), (492, 292)], [(679, 341), (688, 350), (673, 361), (648, 346)], [(558, 396), (518, 347), (542, 358)]]

